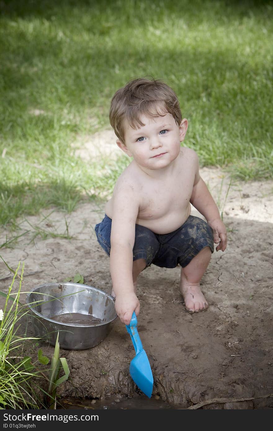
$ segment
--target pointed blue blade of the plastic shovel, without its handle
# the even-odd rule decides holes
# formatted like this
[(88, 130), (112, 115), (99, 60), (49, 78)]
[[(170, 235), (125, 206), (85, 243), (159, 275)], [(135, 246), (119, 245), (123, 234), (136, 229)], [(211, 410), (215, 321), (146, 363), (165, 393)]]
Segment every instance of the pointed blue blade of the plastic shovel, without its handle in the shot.
[(130, 363), (130, 375), (142, 392), (151, 398), (154, 378), (145, 350), (141, 350)]

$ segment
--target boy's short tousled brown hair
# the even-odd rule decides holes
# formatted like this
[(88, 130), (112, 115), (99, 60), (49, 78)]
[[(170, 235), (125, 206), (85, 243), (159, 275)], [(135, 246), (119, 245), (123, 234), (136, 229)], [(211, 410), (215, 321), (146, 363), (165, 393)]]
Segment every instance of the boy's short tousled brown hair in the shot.
[(136, 129), (144, 125), (140, 121), (141, 115), (153, 118), (168, 112), (180, 125), (182, 115), (174, 91), (158, 79), (138, 78), (116, 91), (111, 100), (109, 119), (116, 136), (125, 143), (123, 120)]

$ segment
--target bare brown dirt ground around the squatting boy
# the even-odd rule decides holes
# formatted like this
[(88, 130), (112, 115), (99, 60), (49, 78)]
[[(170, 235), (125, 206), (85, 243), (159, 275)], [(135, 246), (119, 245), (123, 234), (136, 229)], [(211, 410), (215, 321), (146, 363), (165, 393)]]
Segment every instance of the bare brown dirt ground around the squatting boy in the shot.
[[(78, 153), (85, 159), (100, 156), (100, 143), (105, 141), (105, 152), (113, 156), (112, 132), (99, 132), (95, 138), (87, 139)], [(201, 169), (201, 176), (223, 210), (229, 243), (224, 253), (213, 253), (202, 281), (207, 312), (186, 312), (179, 294), (179, 268), (151, 265), (139, 276), (138, 330), (154, 375), (153, 394), (181, 406), (226, 397), (255, 399), (207, 408), (270, 408), (273, 398), (258, 397), (273, 393), (273, 182), (230, 184), (216, 168)], [(50, 209), (28, 217), (32, 227), (22, 220), (19, 233), (28, 233), (0, 254), (13, 268), (19, 261), (25, 263), (23, 291), (80, 273), (85, 284), (111, 293), (109, 258), (94, 233), (103, 215), (104, 203), (83, 203), (71, 214)], [(66, 222), (72, 239), (35, 236), (38, 228), (64, 234)], [(11, 237), (1, 232), (0, 244), (6, 235)], [(3, 262), (0, 276), (0, 290), (7, 292), (12, 277)], [(45, 342), (41, 346), (51, 357), (53, 347)], [(138, 392), (129, 375), (135, 351), (119, 319), (96, 347), (61, 350), (60, 356), (66, 357), (70, 369), (60, 397), (104, 399)]]

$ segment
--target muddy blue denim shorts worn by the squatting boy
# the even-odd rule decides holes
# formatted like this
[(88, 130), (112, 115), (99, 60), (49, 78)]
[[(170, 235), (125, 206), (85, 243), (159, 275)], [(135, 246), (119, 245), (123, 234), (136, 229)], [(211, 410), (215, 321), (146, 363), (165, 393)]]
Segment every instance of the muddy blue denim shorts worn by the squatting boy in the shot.
[[(95, 226), (97, 240), (110, 256), (112, 219), (106, 214)], [(214, 251), (213, 229), (199, 217), (190, 215), (185, 223), (169, 234), (155, 234), (150, 229), (135, 225), (133, 261), (145, 259), (146, 267), (152, 263), (161, 268), (185, 268), (204, 247)]]

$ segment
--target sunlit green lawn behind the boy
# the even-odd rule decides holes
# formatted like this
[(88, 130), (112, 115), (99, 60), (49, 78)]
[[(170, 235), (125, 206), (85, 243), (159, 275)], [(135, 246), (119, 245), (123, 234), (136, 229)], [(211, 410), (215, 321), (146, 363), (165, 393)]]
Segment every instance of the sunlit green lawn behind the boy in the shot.
[(127, 159), (87, 163), (73, 143), (109, 125), (114, 92), (139, 76), (176, 91), (201, 166), (273, 178), (271, 2), (14, 0), (0, 11), (0, 225), (111, 192)]

